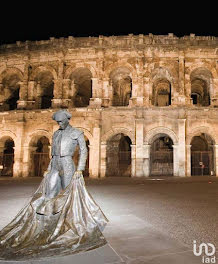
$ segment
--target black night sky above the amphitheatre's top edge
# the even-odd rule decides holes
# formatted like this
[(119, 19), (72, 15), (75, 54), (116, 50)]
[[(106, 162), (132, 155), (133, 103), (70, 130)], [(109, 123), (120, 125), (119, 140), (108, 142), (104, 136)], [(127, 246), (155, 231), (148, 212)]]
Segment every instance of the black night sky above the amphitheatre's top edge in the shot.
[[(45, 1), (44, 1), (45, 2)], [(117, 1), (118, 2), (118, 1)], [(167, 35), (178, 37), (194, 33), (200, 36), (217, 36), (216, 8), (196, 5), (193, 9), (183, 2), (167, 7), (153, 1), (152, 6), (123, 2), (102, 2), (93, 6), (89, 2), (78, 5), (61, 5), (53, 2), (49, 8), (39, 2), (30, 1), (27, 9), (20, 6), (5, 8), (0, 16), (0, 44), (17, 40), (43, 40), (50, 37), (83, 37), (99, 35), (128, 35), (133, 33)], [(72, 2), (75, 3), (75, 2)], [(141, 2), (142, 3), (142, 2)], [(172, 9), (173, 7), (173, 9)], [(13, 9), (13, 13), (11, 10)], [(3, 10), (3, 9), (2, 9)], [(7, 12), (10, 10), (10, 12)], [(214, 11), (213, 11), (214, 10)]]

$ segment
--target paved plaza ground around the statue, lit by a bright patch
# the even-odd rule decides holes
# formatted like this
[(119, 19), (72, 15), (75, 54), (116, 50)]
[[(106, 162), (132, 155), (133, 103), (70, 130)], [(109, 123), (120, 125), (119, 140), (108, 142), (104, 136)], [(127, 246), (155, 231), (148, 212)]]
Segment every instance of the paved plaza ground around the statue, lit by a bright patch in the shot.
[[(40, 181), (0, 178), (0, 228), (29, 201)], [(204, 254), (193, 254), (193, 240), (218, 248), (216, 177), (109, 177), (85, 182), (110, 221), (103, 232), (106, 246), (65, 257), (0, 263), (200, 264)]]

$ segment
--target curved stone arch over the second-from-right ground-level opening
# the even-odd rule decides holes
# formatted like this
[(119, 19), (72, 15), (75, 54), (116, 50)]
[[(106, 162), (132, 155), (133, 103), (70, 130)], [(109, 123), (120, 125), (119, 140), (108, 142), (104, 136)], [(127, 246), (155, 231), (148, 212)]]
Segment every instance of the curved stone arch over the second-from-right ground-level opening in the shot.
[(160, 134), (169, 136), (172, 139), (174, 145), (178, 144), (178, 137), (176, 136), (175, 132), (166, 127), (156, 127), (149, 130), (145, 136), (144, 143), (150, 145), (156, 139), (156, 137), (158, 137), (157, 135)]

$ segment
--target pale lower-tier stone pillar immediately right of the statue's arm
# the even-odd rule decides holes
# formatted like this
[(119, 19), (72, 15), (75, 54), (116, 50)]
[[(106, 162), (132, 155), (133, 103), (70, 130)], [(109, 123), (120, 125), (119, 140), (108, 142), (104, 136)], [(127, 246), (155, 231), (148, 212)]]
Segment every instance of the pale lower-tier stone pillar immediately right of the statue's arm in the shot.
[[(90, 177), (91, 178), (98, 178), (100, 174), (100, 139), (101, 139), (101, 129), (100, 127), (93, 128), (93, 140), (92, 145), (90, 146)], [(102, 158), (102, 157), (101, 157)]]

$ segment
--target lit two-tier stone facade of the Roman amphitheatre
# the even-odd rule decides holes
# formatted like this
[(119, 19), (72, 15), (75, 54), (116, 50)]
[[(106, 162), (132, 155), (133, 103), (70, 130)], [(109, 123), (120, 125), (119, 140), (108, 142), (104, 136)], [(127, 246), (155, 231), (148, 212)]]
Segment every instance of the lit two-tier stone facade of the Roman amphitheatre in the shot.
[(68, 108), (90, 177), (218, 176), (217, 65), (218, 38), (194, 34), (2, 45), (2, 172), (41, 176), (58, 128), (51, 116)]

